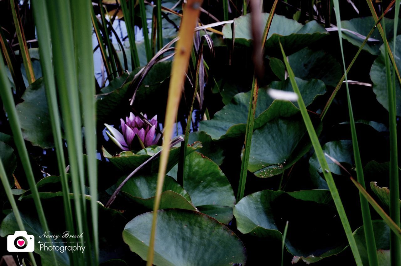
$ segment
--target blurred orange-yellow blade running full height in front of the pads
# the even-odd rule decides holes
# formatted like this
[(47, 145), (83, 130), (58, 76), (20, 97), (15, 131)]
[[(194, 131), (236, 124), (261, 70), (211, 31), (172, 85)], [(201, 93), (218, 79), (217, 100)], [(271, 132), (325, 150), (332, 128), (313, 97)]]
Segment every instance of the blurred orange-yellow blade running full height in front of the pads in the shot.
[(185, 6), (184, 16), (182, 17), (182, 23), (178, 34), (180, 39), (176, 44), (176, 50), (179, 52), (174, 55), (173, 63), (171, 66), (171, 77), (168, 88), (166, 117), (164, 119), (164, 133), (163, 133), (164, 142), (163, 142), (162, 153), (160, 155), (156, 196), (153, 207), (152, 229), (150, 232), (149, 249), (146, 262), (147, 266), (152, 266), (153, 264), (157, 210), (159, 209), (160, 206), (164, 177), (166, 175), (168, 154), (170, 152), (169, 149), (170, 139), (172, 137), (173, 125), (175, 122), (178, 105), (180, 103), (182, 86), (184, 86), (185, 75), (189, 65), (190, 53), (192, 49), (192, 42), (194, 36), (194, 28), (196, 22), (198, 21), (201, 4), (202, 1), (199, 0), (188, 0)]

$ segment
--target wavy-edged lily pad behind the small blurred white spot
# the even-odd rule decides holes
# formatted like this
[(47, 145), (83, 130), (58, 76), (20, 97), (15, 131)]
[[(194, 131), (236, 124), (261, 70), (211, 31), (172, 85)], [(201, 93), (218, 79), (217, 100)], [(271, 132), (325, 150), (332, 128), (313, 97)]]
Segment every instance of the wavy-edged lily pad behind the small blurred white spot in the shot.
[[(324, 94), (326, 86), (320, 80), (305, 81), (296, 78), (306, 106), (311, 104), (318, 94)], [(257, 129), (269, 121), (271, 113), (283, 113), (290, 117), (298, 112), (296, 103), (284, 100), (273, 100), (267, 93), (268, 88), (292, 91), (289, 80), (272, 82), (269, 86), (259, 88), (257, 106), (255, 111), (255, 125)], [(230, 104), (215, 113), (213, 119), (201, 121), (199, 130), (205, 131), (212, 139), (225, 139), (245, 134), (248, 118), (249, 99), (251, 92), (241, 92), (235, 95)]]

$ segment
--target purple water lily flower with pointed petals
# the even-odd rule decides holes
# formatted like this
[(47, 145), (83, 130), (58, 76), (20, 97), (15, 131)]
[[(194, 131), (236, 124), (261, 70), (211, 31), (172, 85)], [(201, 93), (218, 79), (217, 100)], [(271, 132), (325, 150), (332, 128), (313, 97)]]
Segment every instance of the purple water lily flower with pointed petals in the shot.
[[(146, 114), (144, 117), (148, 119)], [(129, 151), (132, 149), (135, 142), (135, 135), (138, 136), (144, 147), (157, 143), (157, 139), (155, 138), (157, 115), (149, 120), (152, 126), (142, 121), (139, 116), (135, 116), (132, 112), (130, 113), (130, 117), (126, 117), (126, 121), (123, 119), (120, 119), (120, 121), (121, 130), (123, 132), (122, 134), (114, 127), (107, 124), (104, 125), (110, 131), (110, 133), (106, 131), (106, 134), (123, 151)]]

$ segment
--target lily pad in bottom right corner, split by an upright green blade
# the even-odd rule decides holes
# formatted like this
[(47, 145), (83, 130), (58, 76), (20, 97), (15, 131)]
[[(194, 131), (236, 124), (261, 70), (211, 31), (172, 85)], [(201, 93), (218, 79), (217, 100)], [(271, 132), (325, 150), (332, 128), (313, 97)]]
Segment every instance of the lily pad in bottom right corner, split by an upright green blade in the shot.
[[(372, 221), (372, 224), (373, 232), (375, 234), (379, 266), (390, 265), (390, 228), (383, 220), (374, 220)], [(365, 241), (365, 231), (363, 230), (363, 226), (356, 229), (356, 231), (354, 232), (354, 237), (363, 265), (369, 265), (368, 252)]]

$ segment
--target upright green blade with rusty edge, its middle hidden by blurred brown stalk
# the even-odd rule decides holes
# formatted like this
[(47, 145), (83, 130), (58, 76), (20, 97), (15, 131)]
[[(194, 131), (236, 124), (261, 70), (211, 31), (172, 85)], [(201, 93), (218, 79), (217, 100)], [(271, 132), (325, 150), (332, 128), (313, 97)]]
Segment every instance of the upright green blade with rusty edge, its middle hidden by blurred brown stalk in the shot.
[[(263, 31), (262, 37), (262, 51), (264, 51), (265, 43), (267, 39), (267, 35), (269, 33), (271, 21), (273, 20), (273, 15), (275, 11), (275, 7), (277, 5), (278, 0), (275, 0), (273, 6), (271, 7), (271, 11), (269, 13), (269, 17), (267, 18), (265, 29)], [(259, 90), (259, 85), (257, 83), (257, 79), (255, 74), (253, 75), (252, 80), (252, 88), (251, 88), (251, 95), (252, 98), (249, 101), (249, 109), (248, 109), (248, 119), (247, 119), (247, 127), (245, 130), (245, 149), (242, 155), (242, 162), (241, 162), (241, 173), (239, 176), (239, 185), (238, 185), (238, 192), (237, 192), (237, 202), (244, 197), (245, 193), (245, 184), (247, 180), (248, 174), (248, 163), (249, 163), (249, 153), (251, 151), (251, 141), (252, 141), (252, 134), (253, 134), (253, 124), (255, 122), (255, 111), (256, 111), (256, 103), (257, 103), (257, 94)]]

